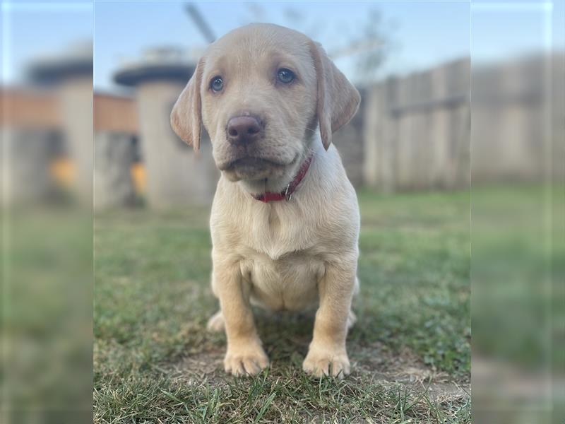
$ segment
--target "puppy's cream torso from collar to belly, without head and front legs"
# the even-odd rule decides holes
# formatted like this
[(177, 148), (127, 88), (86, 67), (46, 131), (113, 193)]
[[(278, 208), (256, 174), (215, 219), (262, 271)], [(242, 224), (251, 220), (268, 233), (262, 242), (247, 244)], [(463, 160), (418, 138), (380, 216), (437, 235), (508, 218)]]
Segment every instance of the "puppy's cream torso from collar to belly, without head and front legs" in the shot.
[(212, 206), (213, 256), (239, 261), (251, 302), (270, 310), (316, 307), (326, 262), (357, 259), (355, 189), (335, 147), (323, 151), (317, 138), (312, 144), (314, 158), (292, 201), (264, 204), (221, 177)]

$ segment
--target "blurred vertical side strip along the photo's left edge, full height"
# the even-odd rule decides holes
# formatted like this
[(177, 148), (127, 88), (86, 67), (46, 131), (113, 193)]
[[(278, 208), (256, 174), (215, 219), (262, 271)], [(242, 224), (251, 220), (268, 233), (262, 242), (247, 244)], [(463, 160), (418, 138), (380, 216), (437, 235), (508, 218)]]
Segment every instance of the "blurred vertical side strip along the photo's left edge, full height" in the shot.
[(88, 423), (93, 4), (0, 10), (0, 421)]

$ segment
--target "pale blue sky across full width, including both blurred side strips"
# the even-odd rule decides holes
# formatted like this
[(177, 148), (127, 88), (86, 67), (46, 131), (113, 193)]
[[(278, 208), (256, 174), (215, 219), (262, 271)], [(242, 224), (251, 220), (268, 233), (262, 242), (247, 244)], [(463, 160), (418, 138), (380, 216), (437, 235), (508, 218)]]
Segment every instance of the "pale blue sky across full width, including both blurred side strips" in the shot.
[[(25, 78), (35, 57), (64, 52), (94, 40), (94, 82), (100, 91), (119, 91), (113, 73), (148, 47), (206, 47), (184, 11), (186, 1), (2, 1), (2, 77)], [(206, 1), (195, 2), (217, 37), (249, 22), (295, 28), (328, 52), (346, 47), (367, 28), (386, 36), (386, 57), (377, 78), (427, 69), (466, 57), (485, 61), (510, 52), (551, 47), (564, 40), (565, 0), (548, 1)], [(374, 19), (374, 13), (381, 17)], [(556, 34), (558, 37), (556, 37)], [(94, 37), (93, 37), (94, 35)], [(355, 78), (357, 57), (336, 59)], [(362, 81), (357, 81), (361, 82)]]

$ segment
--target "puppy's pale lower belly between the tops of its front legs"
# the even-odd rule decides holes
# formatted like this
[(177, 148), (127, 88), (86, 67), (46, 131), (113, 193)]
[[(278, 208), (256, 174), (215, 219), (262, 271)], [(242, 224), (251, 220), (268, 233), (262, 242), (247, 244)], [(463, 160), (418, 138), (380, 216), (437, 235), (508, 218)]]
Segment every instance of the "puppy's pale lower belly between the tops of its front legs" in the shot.
[(256, 305), (299, 311), (312, 307), (318, 300), (323, 261), (305, 252), (286, 254), (277, 260), (257, 252), (249, 255), (242, 268)]

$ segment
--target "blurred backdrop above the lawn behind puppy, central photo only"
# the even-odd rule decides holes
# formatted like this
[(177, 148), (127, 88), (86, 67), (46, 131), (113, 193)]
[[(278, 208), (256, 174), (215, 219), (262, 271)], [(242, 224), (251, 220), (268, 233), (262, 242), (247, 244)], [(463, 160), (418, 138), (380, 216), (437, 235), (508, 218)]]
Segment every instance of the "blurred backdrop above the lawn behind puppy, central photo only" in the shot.
[[(469, 5), (337, 2), (320, 11), (292, 2), (97, 4), (95, 206), (210, 203), (210, 143), (196, 155), (171, 131), (169, 111), (208, 43), (257, 21), (321, 42), (362, 92), (334, 141), (355, 186), (467, 187)], [(124, 37), (140, 27), (143, 35)]]

